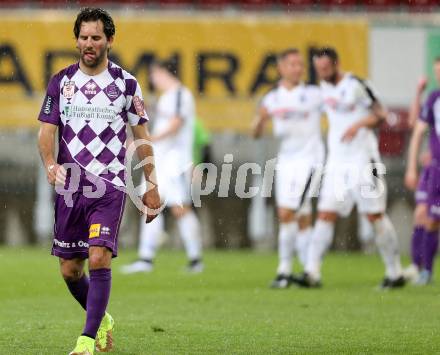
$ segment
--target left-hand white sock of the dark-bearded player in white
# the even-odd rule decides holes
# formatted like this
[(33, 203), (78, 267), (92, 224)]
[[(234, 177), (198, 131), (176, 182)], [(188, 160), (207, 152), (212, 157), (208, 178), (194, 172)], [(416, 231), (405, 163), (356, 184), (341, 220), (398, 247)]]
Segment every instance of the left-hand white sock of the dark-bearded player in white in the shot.
[(316, 221), (313, 228), (304, 271), (315, 280), (321, 279), (322, 257), (332, 243), (334, 230), (334, 223), (321, 219)]

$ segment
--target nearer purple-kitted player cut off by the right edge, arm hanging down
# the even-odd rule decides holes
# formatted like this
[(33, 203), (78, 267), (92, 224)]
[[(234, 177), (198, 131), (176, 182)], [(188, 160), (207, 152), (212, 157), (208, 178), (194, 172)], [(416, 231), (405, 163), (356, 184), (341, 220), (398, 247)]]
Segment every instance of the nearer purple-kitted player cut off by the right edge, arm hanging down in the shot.
[[(434, 72), (440, 82), (440, 58), (434, 63)], [(413, 263), (421, 272), (417, 284), (426, 285), (432, 279), (434, 258), (438, 248), (440, 227), (440, 89), (433, 90), (426, 100), (420, 119), (415, 123), (408, 151), (405, 185), (417, 188), (415, 228), (412, 240)], [(429, 130), (431, 162), (418, 177), (417, 157), (423, 135)]]

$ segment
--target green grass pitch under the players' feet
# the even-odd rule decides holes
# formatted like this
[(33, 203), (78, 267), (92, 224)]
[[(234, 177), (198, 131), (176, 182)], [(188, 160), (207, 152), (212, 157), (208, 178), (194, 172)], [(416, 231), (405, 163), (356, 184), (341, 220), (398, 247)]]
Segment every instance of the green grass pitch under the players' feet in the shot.
[[(440, 288), (379, 292), (377, 256), (331, 254), (320, 290), (270, 290), (276, 255), (207, 252), (206, 271), (161, 252), (152, 274), (114, 260), (114, 354), (439, 354)], [(0, 354), (68, 354), (85, 313), (58, 261), (42, 249), (0, 249)], [(440, 270), (437, 270), (439, 275)]]

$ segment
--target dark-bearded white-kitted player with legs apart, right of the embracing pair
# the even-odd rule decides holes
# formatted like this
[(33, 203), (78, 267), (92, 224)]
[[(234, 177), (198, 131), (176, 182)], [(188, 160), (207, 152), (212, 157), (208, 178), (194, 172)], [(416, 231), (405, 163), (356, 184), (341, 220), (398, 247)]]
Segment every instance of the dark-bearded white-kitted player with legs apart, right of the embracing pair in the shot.
[(394, 227), (385, 213), (384, 166), (379, 165), (373, 132), (386, 112), (371, 87), (339, 69), (338, 54), (323, 48), (314, 57), (321, 79), (324, 109), (329, 120), (327, 164), (322, 182), (318, 218), (311, 236), (305, 274), (300, 284), (320, 285), (321, 261), (330, 247), (338, 216), (347, 216), (354, 204), (373, 226), (375, 241), (385, 264), (383, 288), (405, 284)]

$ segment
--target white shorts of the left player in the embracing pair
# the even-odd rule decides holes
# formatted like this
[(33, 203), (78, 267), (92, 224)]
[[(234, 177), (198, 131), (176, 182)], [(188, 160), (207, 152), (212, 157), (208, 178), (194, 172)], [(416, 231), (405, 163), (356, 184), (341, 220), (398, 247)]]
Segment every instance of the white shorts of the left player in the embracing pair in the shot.
[(302, 214), (311, 212), (312, 187), (317, 170), (310, 160), (278, 158), (275, 175), (275, 201), (278, 207)]

